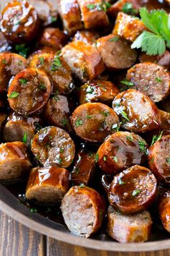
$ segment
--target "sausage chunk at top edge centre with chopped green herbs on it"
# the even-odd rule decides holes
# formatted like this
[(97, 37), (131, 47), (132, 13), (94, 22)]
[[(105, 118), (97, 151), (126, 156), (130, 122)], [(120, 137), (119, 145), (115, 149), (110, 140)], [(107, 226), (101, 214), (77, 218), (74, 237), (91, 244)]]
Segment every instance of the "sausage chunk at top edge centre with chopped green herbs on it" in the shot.
[(107, 27), (109, 19), (106, 14), (107, 5), (102, 0), (78, 0), (81, 9), (81, 20), (86, 30), (94, 27)]

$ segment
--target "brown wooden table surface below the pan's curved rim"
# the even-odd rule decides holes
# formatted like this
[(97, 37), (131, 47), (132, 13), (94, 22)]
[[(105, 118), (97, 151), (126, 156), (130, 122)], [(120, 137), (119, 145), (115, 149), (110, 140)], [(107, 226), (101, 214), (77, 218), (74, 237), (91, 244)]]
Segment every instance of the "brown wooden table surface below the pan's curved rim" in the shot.
[(58, 242), (0, 212), (0, 256), (169, 256), (158, 252), (106, 252)]

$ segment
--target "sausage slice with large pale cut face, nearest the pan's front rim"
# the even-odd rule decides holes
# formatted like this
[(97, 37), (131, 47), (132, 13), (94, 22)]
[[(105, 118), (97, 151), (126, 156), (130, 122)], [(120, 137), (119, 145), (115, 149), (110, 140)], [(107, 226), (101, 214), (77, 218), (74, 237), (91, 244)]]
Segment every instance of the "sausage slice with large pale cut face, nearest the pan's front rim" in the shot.
[(89, 237), (102, 226), (106, 206), (96, 190), (81, 185), (68, 190), (61, 211), (71, 233)]

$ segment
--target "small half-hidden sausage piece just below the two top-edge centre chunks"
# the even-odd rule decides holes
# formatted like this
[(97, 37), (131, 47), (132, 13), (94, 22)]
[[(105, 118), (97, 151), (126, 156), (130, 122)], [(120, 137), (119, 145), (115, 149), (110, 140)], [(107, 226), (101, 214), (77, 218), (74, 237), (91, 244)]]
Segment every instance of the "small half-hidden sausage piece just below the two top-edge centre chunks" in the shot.
[(81, 30), (77, 31), (73, 37), (73, 41), (83, 41), (84, 43), (93, 44), (99, 38), (99, 33), (96, 31)]

